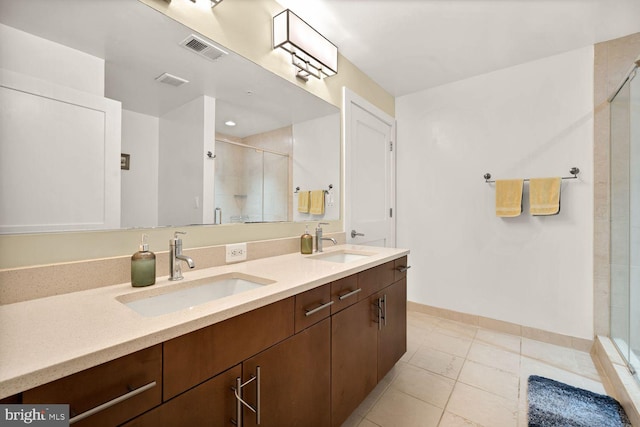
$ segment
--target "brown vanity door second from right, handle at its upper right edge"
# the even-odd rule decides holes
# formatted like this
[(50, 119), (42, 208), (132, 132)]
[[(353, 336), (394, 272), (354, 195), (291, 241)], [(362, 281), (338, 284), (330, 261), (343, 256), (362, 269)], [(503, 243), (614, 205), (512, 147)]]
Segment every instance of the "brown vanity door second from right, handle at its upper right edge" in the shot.
[(364, 299), (331, 318), (331, 425), (340, 426), (377, 383), (377, 306)]

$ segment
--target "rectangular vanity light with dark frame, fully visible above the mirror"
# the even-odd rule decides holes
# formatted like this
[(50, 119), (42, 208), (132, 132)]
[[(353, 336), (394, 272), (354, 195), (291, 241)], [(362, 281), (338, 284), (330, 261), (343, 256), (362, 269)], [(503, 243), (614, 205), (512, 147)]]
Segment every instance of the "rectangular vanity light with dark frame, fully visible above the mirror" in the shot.
[(289, 9), (273, 17), (273, 48), (279, 47), (291, 54), (296, 77), (304, 81), (338, 72), (338, 47)]

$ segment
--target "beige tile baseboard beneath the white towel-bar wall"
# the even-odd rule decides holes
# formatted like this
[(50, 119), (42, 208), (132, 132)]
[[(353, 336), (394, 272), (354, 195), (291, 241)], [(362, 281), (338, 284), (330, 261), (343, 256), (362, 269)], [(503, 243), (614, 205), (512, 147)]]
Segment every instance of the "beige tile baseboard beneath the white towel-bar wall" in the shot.
[(496, 320), (490, 317), (483, 317), (475, 314), (462, 313), (445, 308), (419, 304), (413, 301), (407, 301), (407, 309), (410, 311), (430, 314), (432, 316), (455, 320), (457, 322), (467, 323), (470, 325), (478, 326), (485, 329), (491, 329), (506, 334), (518, 335), (536, 341), (542, 341), (549, 344), (560, 345), (562, 347), (573, 348), (580, 351), (588, 352), (593, 346), (593, 340), (572, 337), (569, 335), (562, 335), (555, 332), (545, 331), (543, 329), (531, 328), (529, 326)]

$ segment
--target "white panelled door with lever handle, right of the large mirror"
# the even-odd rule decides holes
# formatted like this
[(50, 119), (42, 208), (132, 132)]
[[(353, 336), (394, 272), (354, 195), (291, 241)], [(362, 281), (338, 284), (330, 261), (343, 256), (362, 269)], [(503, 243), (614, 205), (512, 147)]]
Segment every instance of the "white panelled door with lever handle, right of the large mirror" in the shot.
[(395, 120), (344, 89), (347, 242), (395, 246)]

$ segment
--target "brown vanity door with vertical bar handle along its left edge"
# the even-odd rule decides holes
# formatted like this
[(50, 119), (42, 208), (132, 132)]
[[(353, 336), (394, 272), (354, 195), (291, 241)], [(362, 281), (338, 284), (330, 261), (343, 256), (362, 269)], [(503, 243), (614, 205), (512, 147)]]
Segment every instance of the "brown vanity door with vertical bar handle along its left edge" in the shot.
[[(246, 360), (244, 381), (260, 367), (261, 427), (327, 427), (331, 419), (331, 319)], [(243, 399), (256, 406), (256, 381), (242, 390)], [(257, 425), (257, 416), (244, 410), (243, 425)]]

